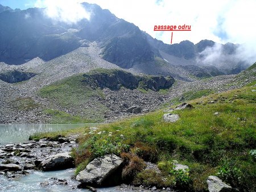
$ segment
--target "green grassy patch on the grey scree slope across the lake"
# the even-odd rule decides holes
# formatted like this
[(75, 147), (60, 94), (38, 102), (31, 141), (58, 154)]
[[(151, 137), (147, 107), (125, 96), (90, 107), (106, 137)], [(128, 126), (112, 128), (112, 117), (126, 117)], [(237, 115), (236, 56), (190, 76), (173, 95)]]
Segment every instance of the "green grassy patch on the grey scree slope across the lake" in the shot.
[[(42, 98), (47, 98), (53, 106), (60, 106), (60, 110), (46, 109), (44, 114), (52, 116), (51, 123), (91, 123), (102, 122), (104, 113), (108, 111), (106, 106), (91, 98), (104, 98), (101, 89), (93, 89), (84, 82), (82, 74), (65, 78), (39, 90)], [(89, 101), (89, 99), (91, 99)], [(93, 106), (92, 107), (89, 107)], [(96, 110), (97, 109), (97, 110)], [(70, 111), (73, 115), (67, 113)], [(93, 114), (93, 116), (92, 116)]]

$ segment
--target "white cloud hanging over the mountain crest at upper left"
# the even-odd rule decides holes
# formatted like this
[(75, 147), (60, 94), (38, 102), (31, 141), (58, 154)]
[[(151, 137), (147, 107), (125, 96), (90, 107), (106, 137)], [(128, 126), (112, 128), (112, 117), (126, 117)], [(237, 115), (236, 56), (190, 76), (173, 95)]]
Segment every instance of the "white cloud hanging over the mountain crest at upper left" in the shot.
[(35, 7), (46, 7), (45, 14), (54, 20), (65, 23), (77, 23), (81, 19), (90, 19), (90, 13), (78, 1), (37, 0)]

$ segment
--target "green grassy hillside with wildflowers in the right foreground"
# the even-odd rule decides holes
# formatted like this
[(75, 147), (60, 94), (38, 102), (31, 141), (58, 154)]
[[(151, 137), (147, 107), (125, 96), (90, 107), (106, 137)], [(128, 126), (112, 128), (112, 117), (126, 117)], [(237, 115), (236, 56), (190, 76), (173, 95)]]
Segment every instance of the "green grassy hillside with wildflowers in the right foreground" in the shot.
[[(164, 122), (159, 110), (104, 124), (96, 132), (85, 127), (33, 138), (80, 132), (79, 148), (73, 150), (77, 173), (93, 158), (115, 153), (134, 160), (126, 169), (134, 185), (205, 191), (207, 177), (215, 175), (241, 191), (256, 191), (255, 85), (192, 100), (192, 109), (172, 112), (180, 116), (175, 123)], [(162, 172), (142, 170), (141, 159), (155, 162)], [(173, 161), (188, 165), (189, 172), (175, 172)]]

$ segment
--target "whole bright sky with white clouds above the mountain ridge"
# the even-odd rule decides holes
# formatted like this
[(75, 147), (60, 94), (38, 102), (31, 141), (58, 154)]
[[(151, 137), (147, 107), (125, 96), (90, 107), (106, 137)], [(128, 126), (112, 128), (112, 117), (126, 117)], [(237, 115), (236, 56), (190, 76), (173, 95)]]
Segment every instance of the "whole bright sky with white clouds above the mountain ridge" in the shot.
[(185, 24), (191, 31), (174, 31), (172, 43), (209, 39), (245, 44), (256, 52), (256, 0), (0, 0), (0, 4), (22, 10), (46, 7), (48, 16), (72, 23), (90, 18), (92, 13), (77, 4), (84, 1), (109, 9), (164, 43), (171, 43), (171, 32), (154, 31), (155, 25)]

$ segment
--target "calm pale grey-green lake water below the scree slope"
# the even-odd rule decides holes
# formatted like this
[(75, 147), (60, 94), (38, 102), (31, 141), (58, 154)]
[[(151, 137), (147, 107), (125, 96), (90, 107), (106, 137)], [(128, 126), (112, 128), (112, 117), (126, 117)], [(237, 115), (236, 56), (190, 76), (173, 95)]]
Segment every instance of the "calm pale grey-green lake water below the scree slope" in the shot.
[(94, 127), (97, 123), (82, 124), (0, 124), (0, 145), (22, 143), (36, 132), (69, 130), (83, 126)]

